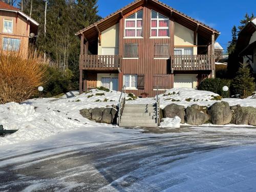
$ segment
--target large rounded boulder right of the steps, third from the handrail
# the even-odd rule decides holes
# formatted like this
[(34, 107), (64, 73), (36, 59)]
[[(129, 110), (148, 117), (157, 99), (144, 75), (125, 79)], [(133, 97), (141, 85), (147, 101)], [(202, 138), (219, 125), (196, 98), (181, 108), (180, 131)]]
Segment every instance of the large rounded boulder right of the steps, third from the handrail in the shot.
[(229, 108), (228, 102), (221, 101), (211, 105), (209, 115), (213, 124), (229, 124), (232, 119), (233, 112)]

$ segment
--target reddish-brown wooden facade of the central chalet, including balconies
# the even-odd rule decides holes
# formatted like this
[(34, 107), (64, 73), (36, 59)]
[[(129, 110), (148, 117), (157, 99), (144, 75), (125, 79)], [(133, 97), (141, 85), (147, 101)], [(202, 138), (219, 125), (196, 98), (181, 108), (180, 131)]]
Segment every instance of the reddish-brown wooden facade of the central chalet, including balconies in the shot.
[[(143, 10), (143, 37), (125, 38), (125, 18), (140, 10)], [(151, 37), (152, 10), (169, 18), (169, 37)], [(214, 42), (219, 33), (195, 22), (190, 17), (179, 14), (180, 12), (177, 10), (156, 0), (135, 1), (97, 24), (78, 32), (77, 35), (81, 37), (80, 93), (87, 91), (87, 88), (92, 88), (92, 80), (89, 80), (89, 76), (93, 74), (94, 81), (97, 81), (97, 73), (102, 73), (102, 71), (118, 73), (119, 91), (124, 84), (124, 74), (138, 75), (137, 89), (129, 90), (137, 96), (144, 92), (155, 96), (157, 88), (163, 91), (173, 88), (176, 74), (197, 74), (198, 81), (205, 76), (214, 77)], [(193, 46), (175, 44), (176, 22), (194, 31)], [(101, 32), (117, 23), (119, 24), (119, 54), (98, 55), (97, 45), (103, 38)], [(92, 30), (94, 30), (95, 36), (93, 36)], [(97, 40), (95, 40), (96, 36)], [(124, 58), (124, 44), (138, 45), (138, 58)], [(169, 46), (168, 58), (155, 58), (155, 46), (159, 44)], [(175, 55), (175, 47), (194, 47), (200, 55)], [(89, 50), (95, 55), (88, 55)], [(95, 87), (96, 85), (97, 83), (94, 83)]]

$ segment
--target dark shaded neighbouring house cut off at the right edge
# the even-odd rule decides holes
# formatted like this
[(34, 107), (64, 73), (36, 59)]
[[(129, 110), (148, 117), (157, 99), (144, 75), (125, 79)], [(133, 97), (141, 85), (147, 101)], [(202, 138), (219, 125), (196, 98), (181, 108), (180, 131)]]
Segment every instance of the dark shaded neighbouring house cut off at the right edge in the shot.
[(256, 73), (256, 17), (239, 32), (236, 51), (241, 62), (249, 63)]

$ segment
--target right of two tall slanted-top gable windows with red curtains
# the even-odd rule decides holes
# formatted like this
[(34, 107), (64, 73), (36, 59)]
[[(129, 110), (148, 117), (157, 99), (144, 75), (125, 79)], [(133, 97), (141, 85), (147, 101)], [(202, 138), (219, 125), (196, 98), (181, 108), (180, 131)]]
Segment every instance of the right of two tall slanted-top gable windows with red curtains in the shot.
[(151, 37), (169, 36), (169, 18), (151, 11)]

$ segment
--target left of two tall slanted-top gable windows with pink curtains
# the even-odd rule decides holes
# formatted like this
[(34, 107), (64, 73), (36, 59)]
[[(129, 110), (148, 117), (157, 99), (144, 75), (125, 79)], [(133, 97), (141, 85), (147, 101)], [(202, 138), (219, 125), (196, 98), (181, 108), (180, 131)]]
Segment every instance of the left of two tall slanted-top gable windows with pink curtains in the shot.
[(143, 11), (138, 11), (127, 17), (124, 21), (124, 37), (142, 37), (143, 36)]

